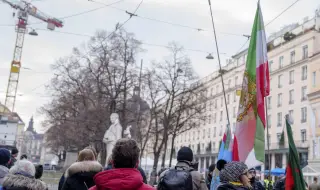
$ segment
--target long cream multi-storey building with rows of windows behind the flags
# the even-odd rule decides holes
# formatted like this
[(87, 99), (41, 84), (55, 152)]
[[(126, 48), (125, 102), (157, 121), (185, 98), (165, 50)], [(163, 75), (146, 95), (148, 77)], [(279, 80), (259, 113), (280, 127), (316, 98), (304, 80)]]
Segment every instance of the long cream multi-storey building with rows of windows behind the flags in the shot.
[[(266, 162), (262, 170), (286, 166), (288, 155), (286, 135), (284, 142), (280, 142), (282, 132), (285, 131), (286, 114), (291, 118), (301, 166), (305, 166), (312, 156), (310, 151), (313, 142), (310, 128), (312, 108), (308, 97), (320, 96), (320, 79), (317, 78), (319, 77), (317, 69), (320, 65), (319, 18), (320, 15), (316, 14), (313, 19), (305, 19), (302, 24), (291, 27), (283, 35), (276, 36), (268, 42), (271, 91), (266, 101), (269, 134), (266, 130), (265, 139), (269, 138), (270, 154), (266, 151)], [(239, 106), (237, 90), (241, 89), (246, 57), (247, 50), (244, 50), (233, 56), (232, 60), (228, 60), (222, 70), (232, 131), (236, 126)], [(316, 78), (313, 78), (314, 70)], [(191, 147), (201, 172), (204, 172), (209, 164), (217, 161), (220, 141), (228, 124), (219, 74), (215, 72), (199, 81), (208, 89), (208, 101), (204, 105), (207, 109), (206, 119), (201, 121), (196, 129), (180, 135), (175, 146), (176, 150), (181, 146)], [(315, 102), (318, 101), (319, 99)], [(314, 106), (316, 105), (318, 104), (315, 103)], [(267, 143), (265, 148), (267, 150)]]

